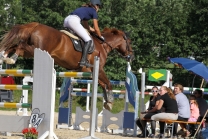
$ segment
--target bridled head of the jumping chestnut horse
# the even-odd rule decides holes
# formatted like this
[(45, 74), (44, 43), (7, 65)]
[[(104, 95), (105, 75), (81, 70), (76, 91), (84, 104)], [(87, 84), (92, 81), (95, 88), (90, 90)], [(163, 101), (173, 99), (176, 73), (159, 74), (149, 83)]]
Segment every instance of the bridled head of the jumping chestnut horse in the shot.
[(104, 29), (104, 35), (111, 49), (116, 49), (129, 62), (134, 59), (131, 40), (125, 32), (117, 29)]

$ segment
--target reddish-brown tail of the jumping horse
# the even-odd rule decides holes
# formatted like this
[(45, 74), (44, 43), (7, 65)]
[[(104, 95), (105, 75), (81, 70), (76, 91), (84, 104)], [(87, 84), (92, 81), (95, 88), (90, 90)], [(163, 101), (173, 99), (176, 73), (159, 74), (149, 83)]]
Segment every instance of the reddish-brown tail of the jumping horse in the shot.
[(32, 22), (29, 24), (16, 25), (8, 33), (4, 34), (0, 42), (0, 52), (6, 50), (20, 42), (27, 42), (32, 31), (39, 23)]

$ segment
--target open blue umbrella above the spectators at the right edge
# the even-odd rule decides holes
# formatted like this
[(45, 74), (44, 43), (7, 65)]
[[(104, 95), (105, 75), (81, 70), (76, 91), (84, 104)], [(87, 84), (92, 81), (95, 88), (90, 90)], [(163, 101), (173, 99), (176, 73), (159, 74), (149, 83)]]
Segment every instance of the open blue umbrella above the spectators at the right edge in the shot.
[(181, 65), (184, 69), (201, 76), (208, 82), (208, 67), (203, 63), (188, 58), (169, 58), (170, 62)]

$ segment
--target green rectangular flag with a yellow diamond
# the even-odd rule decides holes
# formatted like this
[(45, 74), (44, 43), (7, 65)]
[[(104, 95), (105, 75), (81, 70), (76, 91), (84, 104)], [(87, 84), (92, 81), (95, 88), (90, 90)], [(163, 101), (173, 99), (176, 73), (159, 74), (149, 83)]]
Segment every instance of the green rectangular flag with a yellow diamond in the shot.
[(165, 69), (149, 70), (149, 81), (165, 81), (167, 77), (167, 71)]

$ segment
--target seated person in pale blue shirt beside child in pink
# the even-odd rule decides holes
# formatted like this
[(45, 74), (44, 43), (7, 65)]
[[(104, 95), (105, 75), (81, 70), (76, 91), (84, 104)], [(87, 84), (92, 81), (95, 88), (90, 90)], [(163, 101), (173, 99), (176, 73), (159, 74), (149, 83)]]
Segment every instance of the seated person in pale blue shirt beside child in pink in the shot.
[[(189, 100), (183, 93), (183, 86), (181, 84), (174, 84), (174, 93), (178, 105), (178, 121), (188, 121), (190, 118)], [(180, 123), (181, 130), (176, 134), (178, 123), (174, 123), (173, 136), (182, 135), (189, 136), (190, 132), (186, 129), (186, 124)]]

